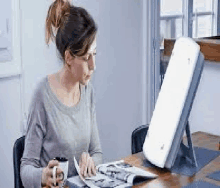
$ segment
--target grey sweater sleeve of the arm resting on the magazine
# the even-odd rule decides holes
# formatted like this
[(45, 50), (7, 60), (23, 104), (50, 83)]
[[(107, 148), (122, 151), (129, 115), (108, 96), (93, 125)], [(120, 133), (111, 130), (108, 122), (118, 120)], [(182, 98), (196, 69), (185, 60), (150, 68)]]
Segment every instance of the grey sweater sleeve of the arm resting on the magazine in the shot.
[(96, 110), (94, 100), (94, 90), (91, 88), (91, 138), (89, 145), (89, 154), (93, 158), (95, 165), (102, 163), (102, 149), (100, 144), (98, 126), (96, 121)]

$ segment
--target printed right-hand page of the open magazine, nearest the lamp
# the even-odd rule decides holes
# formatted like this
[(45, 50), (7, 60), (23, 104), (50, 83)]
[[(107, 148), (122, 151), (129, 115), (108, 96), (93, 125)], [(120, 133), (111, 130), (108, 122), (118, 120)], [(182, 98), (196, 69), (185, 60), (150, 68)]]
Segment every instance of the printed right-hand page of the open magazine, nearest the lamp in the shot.
[(125, 163), (123, 160), (98, 165), (97, 171), (101, 174), (105, 174), (108, 177), (122, 180), (132, 185), (135, 178), (142, 178), (144, 180), (157, 177), (157, 175), (131, 166)]

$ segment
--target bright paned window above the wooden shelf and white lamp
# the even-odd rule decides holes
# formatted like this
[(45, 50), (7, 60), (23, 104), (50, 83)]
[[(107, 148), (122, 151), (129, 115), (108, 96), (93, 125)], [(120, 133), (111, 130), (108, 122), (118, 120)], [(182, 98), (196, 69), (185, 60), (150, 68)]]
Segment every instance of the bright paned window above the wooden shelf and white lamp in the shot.
[(160, 0), (160, 3), (162, 39), (217, 34), (218, 0)]

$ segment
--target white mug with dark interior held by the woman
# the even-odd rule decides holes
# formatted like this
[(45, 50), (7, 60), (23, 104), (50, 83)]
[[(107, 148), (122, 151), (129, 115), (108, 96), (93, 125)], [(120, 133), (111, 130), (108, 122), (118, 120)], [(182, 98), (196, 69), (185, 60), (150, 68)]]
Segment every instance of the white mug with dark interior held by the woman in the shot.
[(59, 178), (63, 181), (63, 183), (59, 184), (59, 187), (63, 187), (65, 184), (65, 181), (67, 179), (67, 174), (68, 174), (68, 167), (69, 167), (69, 161), (65, 157), (55, 157), (55, 160), (59, 161), (59, 167), (62, 169), (62, 173), (57, 176), (57, 168), (58, 166), (53, 167), (53, 181), (54, 185), (56, 185), (56, 178)]

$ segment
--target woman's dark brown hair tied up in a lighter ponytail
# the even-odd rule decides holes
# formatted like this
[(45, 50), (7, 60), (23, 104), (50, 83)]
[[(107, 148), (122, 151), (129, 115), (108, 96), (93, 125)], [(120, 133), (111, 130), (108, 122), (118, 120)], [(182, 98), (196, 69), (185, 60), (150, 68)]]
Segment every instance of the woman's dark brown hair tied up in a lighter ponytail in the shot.
[(65, 51), (83, 56), (95, 39), (97, 25), (91, 15), (82, 7), (70, 4), (68, 0), (54, 1), (46, 18), (46, 43), (56, 41), (56, 47), (63, 59)]

